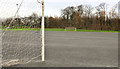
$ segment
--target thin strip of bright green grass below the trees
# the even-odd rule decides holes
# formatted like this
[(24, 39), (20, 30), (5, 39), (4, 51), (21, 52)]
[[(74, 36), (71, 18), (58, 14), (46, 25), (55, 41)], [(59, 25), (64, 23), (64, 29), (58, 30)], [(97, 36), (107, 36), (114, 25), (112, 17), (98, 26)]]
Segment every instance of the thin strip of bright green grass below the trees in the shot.
[[(5, 29), (3, 29), (5, 30)], [(8, 31), (23, 31), (23, 30), (40, 30), (40, 28), (22, 28), (22, 29), (8, 29)], [(65, 31), (65, 29), (57, 29), (57, 28), (46, 28), (45, 31)], [(75, 31), (73, 29), (69, 29), (66, 31)], [(84, 30), (84, 29), (77, 29), (76, 32), (111, 32), (111, 33), (118, 33), (120, 31), (101, 31), (101, 30)]]

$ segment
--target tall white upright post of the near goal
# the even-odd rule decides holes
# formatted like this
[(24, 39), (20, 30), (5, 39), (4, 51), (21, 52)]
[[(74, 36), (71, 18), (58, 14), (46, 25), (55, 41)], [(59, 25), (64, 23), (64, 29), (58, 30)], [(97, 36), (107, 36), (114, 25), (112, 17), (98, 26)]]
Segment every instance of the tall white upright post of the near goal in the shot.
[(45, 61), (44, 0), (42, 0), (42, 61)]

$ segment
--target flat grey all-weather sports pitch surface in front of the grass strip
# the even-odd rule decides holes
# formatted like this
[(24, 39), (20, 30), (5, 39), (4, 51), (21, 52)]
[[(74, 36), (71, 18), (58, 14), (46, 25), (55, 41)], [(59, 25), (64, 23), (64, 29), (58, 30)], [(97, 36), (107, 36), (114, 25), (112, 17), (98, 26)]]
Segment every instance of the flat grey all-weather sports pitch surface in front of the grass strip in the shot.
[[(23, 35), (20, 37), (23, 42), (27, 40), (24, 36), (25, 31), (16, 32)], [(19, 33), (12, 35), (16, 36), (13, 40), (20, 36)], [(34, 54), (36, 55), (40, 54), (38, 49), (41, 46), (38, 33), (37, 31), (27, 32), (27, 37), (30, 38), (26, 45), (28, 48), (35, 47)], [(10, 32), (7, 32), (6, 37), (4, 37), (6, 38), (5, 42), (12, 39), (12, 37), (8, 37), (9, 35)], [(14, 41), (13, 44), (15, 43), (17, 42)], [(7, 47), (7, 45), (4, 46)], [(45, 62), (17, 64), (13, 67), (117, 67), (118, 65), (118, 33), (46, 31), (45, 47)], [(11, 49), (19, 51), (20, 48), (24, 50), (26, 47), (20, 44), (18, 48)], [(28, 52), (31, 51), (33, 50), (30, 49)], [(22, 53), (21, 56), (24, 56), (25, 52)], [(30, 55), (33, 54), (28, 56)], [(40, 60), (40, 58), (36, 58), (36, 60)]]

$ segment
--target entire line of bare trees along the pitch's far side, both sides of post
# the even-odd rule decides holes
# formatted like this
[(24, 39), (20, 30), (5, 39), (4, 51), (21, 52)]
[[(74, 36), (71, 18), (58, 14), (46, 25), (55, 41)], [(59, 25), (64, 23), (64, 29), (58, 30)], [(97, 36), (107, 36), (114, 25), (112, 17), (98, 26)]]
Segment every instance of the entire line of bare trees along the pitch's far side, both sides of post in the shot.
[[(120, 19), (116, 12), (117, 4), (108, 10), (106, 3), (100, 3), (96, 7), (91, 5), (68, 6), (61, 10), (60, 17), (45, 17), (46, 28), (75, 27), (87, 30), (115, 30), (118, 31)], [(8, 26), (11, 18), (2, 22), (2, 26)], [(14, 27), (40, 28), (41, 17), (36, 13), (24, 18), (16, 18), (10, 25)]]

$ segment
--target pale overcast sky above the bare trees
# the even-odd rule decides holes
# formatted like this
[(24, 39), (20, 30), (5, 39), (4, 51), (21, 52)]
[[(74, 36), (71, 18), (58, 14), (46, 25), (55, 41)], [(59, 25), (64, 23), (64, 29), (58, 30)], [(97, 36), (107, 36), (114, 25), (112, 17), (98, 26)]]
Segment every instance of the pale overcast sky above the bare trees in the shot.
[[(12, 17), (17, 10), (16, 4), (20, 4), (22, 0), (0, 0), (0, 18)], [(67, 6), (78, 6), (80, 4), (90, 4), (93, 7), (98, 6), (102, 2), (109, 4), (109, 8), (117, 4), (120, 0), (45, 0), (45, 15), (60, 16), (61, 9)], [(41, 15), (40, 4), (37, 0), (24, 0), (19, 11), (20, 16), (28, 16), (33, 12)], [(110, 9), (109, 9), (110, 10)]]

